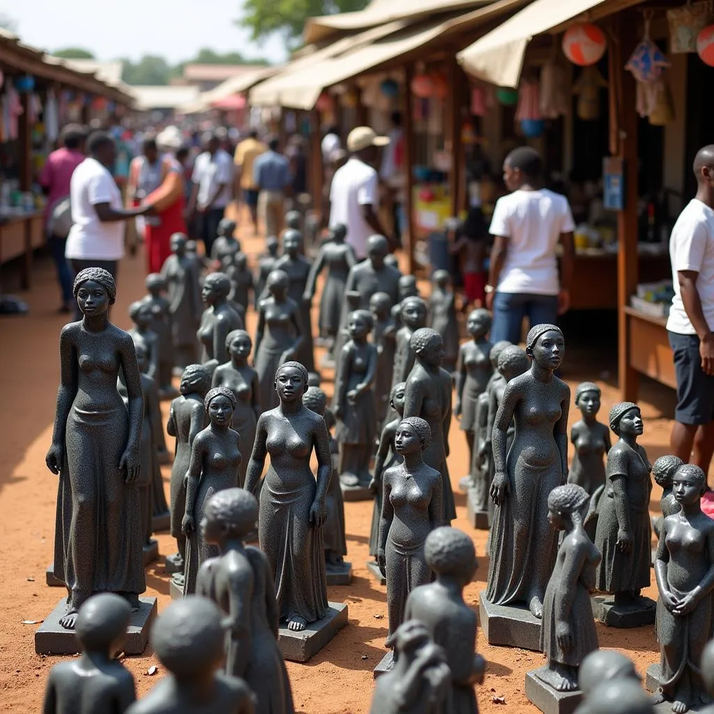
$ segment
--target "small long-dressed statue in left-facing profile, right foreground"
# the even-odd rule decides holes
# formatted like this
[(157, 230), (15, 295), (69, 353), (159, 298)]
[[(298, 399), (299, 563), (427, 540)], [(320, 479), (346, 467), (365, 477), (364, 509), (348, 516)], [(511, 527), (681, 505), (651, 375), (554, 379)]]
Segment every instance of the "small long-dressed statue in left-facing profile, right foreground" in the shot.
[(548, 496), (548, 519), (564, 537), (545, 589), (540, 649), (548, 662), (533, 673), (558, 692), (578, 688), (583, 659), (598, 649), (590, 593), (600, 552), (583, 527), (590, 496), (577, 483), (557, 486)]

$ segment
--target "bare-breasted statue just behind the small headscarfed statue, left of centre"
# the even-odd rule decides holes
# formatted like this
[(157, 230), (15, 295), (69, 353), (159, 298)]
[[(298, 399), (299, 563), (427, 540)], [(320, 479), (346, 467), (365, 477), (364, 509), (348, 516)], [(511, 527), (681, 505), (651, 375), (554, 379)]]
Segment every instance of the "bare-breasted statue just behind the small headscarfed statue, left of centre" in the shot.
[[(261, 416), (261, 406), (258, 403), (260, 385), (258, 373), (248, 366), (253, 341), (245, 330), (233, 330), (226, 335), (226, 351), (230, 361), (216, 367), (213, 372), (214, 387), (228, 387), (236, 395), (236, 408), (233, 411), (231, 429), (241, 436), (241, 448), (244, 453), (253, 449), (256, 438), (256, 424)], [(238, 468), (238, 486), (246, 483), (248, 459), (241, 460)]]

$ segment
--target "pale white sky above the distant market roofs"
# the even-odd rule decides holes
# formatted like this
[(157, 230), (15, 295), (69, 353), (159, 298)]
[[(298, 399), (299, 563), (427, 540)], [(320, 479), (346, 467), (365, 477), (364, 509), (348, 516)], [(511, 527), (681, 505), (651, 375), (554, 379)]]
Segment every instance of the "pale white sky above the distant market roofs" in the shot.
[(82, 47), (97, 59), (134, 61), (156, 54), (176, 64), (208, 47), (286, 59), (281, 38), (256, 44), (234, 24), (240, 9), (241, 0), (0, 0), (21, 41), (45, 51)]

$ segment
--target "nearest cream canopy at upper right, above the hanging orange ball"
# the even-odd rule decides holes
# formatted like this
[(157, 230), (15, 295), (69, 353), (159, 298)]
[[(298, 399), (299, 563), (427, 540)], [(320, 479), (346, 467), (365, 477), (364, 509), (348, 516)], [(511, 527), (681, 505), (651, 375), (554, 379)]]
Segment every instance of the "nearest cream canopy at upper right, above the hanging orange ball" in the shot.
[(516, 87), (521, 78), (526, 47), (533, 36), (558, 31), (563, 23), (586, 12), (588, 20), (596, 20), (642, 1), (534, 0), (459, 52), (456, 59), (468, 74), (497, 86)]

